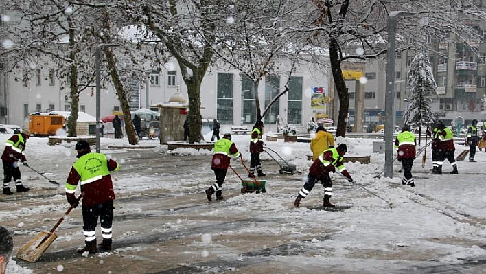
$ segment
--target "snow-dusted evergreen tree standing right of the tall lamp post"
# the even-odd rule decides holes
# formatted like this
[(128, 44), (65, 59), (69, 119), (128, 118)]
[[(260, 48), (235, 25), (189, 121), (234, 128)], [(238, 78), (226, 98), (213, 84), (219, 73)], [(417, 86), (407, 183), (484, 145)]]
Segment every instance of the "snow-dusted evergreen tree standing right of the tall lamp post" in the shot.
[(437, 84), (426, 52), (419, 52), (413, 58), (408, 69), (407, 82), (410, 93), (408, 93), (408, 108), (404, 115), (405, 124), (421, 126), (434, 122), (430, 97), (437, 95)]

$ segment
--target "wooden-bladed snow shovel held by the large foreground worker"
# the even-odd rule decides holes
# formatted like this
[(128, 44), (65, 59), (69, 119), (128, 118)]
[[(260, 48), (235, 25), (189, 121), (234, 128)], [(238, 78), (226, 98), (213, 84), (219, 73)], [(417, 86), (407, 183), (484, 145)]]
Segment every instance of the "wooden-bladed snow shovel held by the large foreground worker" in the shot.
[[(76, 204), (80, 202), (82, 195), (76, 200)], [(67, 214), (73, 209), (73, 205), (67, 209), (66, 213), (58, 220), (56, 225), (52, 227), (51, 231), (40, 231), (32, 240), (27, 242), (17, 251), (17, 258), (27, 262), (36, 262), (38, 258), (49, 248), (52, 242), (58, 238), (54, 231), (58, 228), (60, 223), (67, 217)]]

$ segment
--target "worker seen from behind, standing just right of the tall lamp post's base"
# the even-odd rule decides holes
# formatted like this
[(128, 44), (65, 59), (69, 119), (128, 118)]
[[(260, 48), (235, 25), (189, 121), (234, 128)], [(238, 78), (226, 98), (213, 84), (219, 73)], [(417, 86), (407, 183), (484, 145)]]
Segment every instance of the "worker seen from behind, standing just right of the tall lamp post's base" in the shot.
[(415, 160), (416, 153), (415, 146), (417, 146), (415, 135), (410, 133), (410, 126), (404, 126), (402, 132), (395, 139), (395, 148), (397, 148), (397, 160), (402, 163), (404, 170), (402, 185), (410, 185), (410, 187), (415, 187), (412, 176), (413, 160)]

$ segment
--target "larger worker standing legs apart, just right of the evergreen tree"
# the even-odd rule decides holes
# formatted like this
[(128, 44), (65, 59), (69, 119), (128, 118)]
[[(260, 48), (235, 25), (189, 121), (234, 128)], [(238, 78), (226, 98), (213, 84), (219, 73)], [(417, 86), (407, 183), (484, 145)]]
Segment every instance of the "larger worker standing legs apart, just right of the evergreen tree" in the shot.
[(452, 165), (452, 171), (450, 174), (459, 174), (457, 170), (457, 162), (454, 158), (454, 151), (456, 147), (454, 146), (454, 135), (452, 130), (445, 126), (443, 122), (438, 123), (439, 131), (437, 137), (433, 141), (436, 142), (437, 148), (439, 149), (439, 159), (437, 160), (437, 169), (435, 174), (442, 174), (442, 165), (445, 159), (448, 159), (449, 163)]

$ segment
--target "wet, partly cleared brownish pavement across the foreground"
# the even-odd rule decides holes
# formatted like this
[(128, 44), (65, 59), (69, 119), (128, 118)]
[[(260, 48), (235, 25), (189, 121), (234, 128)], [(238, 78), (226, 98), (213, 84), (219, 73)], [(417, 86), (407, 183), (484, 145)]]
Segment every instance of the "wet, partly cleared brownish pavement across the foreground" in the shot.
[[(485, 273), (486, 260), (441, 263), (433, 260), (441, 249), (378, 248), (337, 252), (336, 229), (343, 212), (322, 212), (332, 218), (333, 225), (316, 224), (312, 216), (296, 216), (292, 206), (294, 195), (303, 183), (304, 175), (279, 174), (279, 165), (265, 161), (268, 174), (268, 194), (241, 194), (238, 180), (227, 176), (224, 201), (209, 203), (204, 190), (213, 183), (210, 156), (177, 156), (154, 150), (117, 152), (124, 159), (122, 168), (113, 175), (117, 180), (146, 178), (149, 187), (140, 190), (119, 190), (115, 200), (113, 250), (90, 255), (76, 253), (84, 244), (82, 217), (79, 208), (62, 222), (51, 244), (35, 263), (16, 260), (34, 273)], [(49, 176), (62, 178), (71, 162), (52, 166)], [(247, 175), (241, 165), (235, 165), (240, 175)], [(42, 180), (34, 172), (23, 172), (24, 178)], [(27, 180), (25, 180), (27, 181)], [(57, 180), (61, 182), (61, 180)], [(171, 185), (174, 181), (174, 185)], [(229, 183), (232, 181), (233, 183)], [(176, 183), (175, 183), (176, 182)], [(16, 227), (15, 251), (40, 230), (49, 230), (65, 212), (64, 186), (45, 183), (28, 194), (1, 196), (1, 210), (12, 211), (15, 218), (2, 220), (2, 225)], [(345, 192), (345, 187), (336, 186)], [(365, 195), (364, 192), (357, 192)], [(255, 197), (258, 195), (258, 197)], [(266, 196), (264, 196), (266, 195)], [(354, 196), (358, 194), (354, 193)], [(244, 198), (247, 197), (247, 206)], [(319, 204), (320, 195), (306, 199), (308, 205)], [(289, 214), (273, 216), (255, 206), (255, 199), (285, 199), (282, 210)], [(419, 206), (428, 206), (419, 197)], [(337, 201), (340, 202), (339, 200)], [(341, 201), (344, 203), (344, 201)], [(373, 210), (373, 209), (371, 209)], [(446, 212), (453, 218), (465, 219), (460, 212)], [(459, 214), (459, 215), (457, 215)], [(326, 216), (326, 215), (323, 215)], [(447, 217), (447, 216), (446, 216)], [(447, 218), (449, 218), (447, 217)], [(471, 220), (486, 225), (485, 220)], [(324, 222), (325, 223), (325, 222)], [(98, 229), (99, 230), (99, 229)], [(99, 233), (99, 231), (97, 231)], [(98, 235), (98, 239), (100, 236)], [(471, 245), (483, 248), (484, 242), (461, 238), (429, 239), (439, 244)], [(436, 254), (437, 253), (437, 254)], [(346, 263), (343, 263), (346, 262)], [(59, 271), (61, 269), (62, 271)]]

